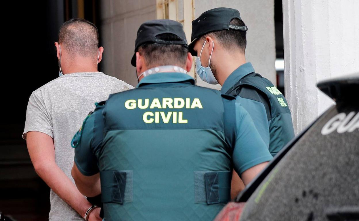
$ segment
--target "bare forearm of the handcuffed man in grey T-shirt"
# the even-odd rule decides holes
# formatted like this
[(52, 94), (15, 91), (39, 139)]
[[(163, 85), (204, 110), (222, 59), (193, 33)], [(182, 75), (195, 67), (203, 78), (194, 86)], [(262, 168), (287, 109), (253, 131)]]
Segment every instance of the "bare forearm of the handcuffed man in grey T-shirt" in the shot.
[(62, 200), (78, 212), (81, 217), (84, 217), (85, 212), (91, 204), (56, 163), (42, 163), (40, 166), (35, 166), (35, 170)]

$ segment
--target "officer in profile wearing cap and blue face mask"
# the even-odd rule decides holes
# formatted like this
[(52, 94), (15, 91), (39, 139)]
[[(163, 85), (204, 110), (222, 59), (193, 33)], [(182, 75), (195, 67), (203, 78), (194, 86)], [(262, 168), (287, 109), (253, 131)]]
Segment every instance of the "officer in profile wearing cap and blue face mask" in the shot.
[[(192, 21), (189, 51), (198, 56), (196, 72), (200, 78), (210, 84), (219, 83), (223, 94), (236, 96), (236, 104), (249, 112), (275, 156), (294, 138), (292, 116), (282, 93), (246, 61), (247, 30), (238, 10), (208, 10)], [(232, 197), (242, 188), (233, 187)]]

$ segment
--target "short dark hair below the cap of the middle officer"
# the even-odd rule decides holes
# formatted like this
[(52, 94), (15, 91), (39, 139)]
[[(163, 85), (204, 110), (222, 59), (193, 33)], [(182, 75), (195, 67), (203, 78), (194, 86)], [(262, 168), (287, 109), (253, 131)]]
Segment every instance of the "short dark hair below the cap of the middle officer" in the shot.
[[(175, 34), (159, 34), (161, 40), (182, 40)], [(145, 58), (146, 66), (153, 68), (164, 65), (186, 65), (188, 53), (187, 45), (145, 43), (138, 48), (138, 52)]]

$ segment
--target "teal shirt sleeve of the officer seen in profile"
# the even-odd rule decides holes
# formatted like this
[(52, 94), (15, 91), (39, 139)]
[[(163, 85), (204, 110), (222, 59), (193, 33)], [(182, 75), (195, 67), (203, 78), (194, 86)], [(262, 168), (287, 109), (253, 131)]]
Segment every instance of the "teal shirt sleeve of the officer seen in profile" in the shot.
[(266, 109), (262, 102), (243, 98), (241, 96), (238, 96), (236, 101), (241, 103), (242, 107), (248, 111), (258, 133), (260, 134), (267, 148), (269, 148), (269, 122), (267, 119)]

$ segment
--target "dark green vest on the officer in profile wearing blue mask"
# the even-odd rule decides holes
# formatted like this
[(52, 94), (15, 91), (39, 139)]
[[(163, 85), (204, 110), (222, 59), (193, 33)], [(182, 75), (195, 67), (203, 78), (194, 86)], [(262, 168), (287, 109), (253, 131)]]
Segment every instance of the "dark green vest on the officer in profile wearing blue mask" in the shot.
[(292, 115), (283, 94), (267, 78), (257, 73), (250, 73), (238, 81), (226, 94), (237, 96), (241, 89), (252, 88), (267, 101), (265, 105), (269, 125), (269, 150), (278, 153), (294, 138)]

